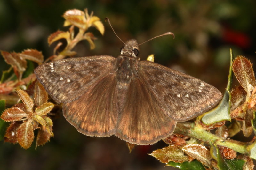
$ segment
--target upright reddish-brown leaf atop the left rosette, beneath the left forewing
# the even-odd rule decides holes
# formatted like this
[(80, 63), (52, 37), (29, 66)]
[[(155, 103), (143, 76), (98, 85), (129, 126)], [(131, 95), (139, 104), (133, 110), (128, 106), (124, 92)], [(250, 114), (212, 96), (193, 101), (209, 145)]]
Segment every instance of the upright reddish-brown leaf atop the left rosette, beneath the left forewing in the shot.
[(48, 94), (44, 89), (44, 86), (39, 81), (37, 81), (35, 84), (34, 100), (37, 106), (41, 106), (48, 100)]

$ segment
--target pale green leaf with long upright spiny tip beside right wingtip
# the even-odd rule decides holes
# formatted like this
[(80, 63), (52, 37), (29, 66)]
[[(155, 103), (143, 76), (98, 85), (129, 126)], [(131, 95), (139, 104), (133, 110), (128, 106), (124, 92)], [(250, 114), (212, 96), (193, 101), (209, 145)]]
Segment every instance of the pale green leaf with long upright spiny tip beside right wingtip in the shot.
[(231, 84), (233, 79), (233, 72), (232, 72), (232, 61), (234, 59), (234, 55), (232, 50), (230, 49), (230, 67), (229, 67), (229, 76), (228, 76), (228, 85), (224, 96), (217, 107), (213, 108), (212, 110), (206, 112), (202, 118), (202, 122), (206, 125), (210, 125), (216, 122), (220, 122), (223, 120), (231, 121), (231, 117), (229, 115), (230, 107), (231, 107)]

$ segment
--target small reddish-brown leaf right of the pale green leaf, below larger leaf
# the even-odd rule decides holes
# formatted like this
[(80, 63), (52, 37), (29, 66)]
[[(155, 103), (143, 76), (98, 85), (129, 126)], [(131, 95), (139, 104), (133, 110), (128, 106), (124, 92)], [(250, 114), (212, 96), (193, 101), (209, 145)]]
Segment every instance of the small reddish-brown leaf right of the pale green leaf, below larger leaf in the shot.
[(242, 105), (246, 99), (246, 92), (244, 88), (239, 85), (232, 89), (231, 91), (231, 110)]

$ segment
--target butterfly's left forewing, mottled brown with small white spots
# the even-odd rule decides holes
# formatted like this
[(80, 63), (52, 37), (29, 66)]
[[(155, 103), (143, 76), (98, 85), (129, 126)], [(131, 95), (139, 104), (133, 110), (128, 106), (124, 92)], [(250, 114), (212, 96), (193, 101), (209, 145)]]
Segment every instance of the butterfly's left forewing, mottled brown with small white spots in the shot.
[(109, 74), (115, 60), (108, 55), (63, 59), (44, 63), (34, 72), (56, 102), (68, 103)]

